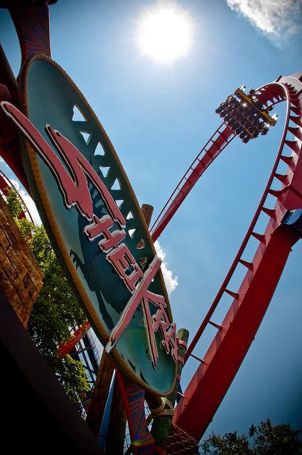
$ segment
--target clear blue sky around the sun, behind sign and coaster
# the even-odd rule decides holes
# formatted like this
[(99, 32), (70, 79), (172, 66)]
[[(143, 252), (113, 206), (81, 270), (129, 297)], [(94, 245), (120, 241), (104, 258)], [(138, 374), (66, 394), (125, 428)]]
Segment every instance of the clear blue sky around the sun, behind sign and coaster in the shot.
[[(53, 59), (95, 110), (139, 203), (153, 205), (156, 215), (219, 126), (220, 102), (242, 84), (259, 87), (301, 70), (302, 52), (301, 2), (275, 1), (273, 10), (266, 0), (259, 11), (254, 0), (229, 1), (233, 9), (222, 0), (183, 0), (178, 5), (193, 21), (193, 45), (173, 64), (156, 65), (141, 56), (134, 40), (139, 18), (154, 3), (60, 0), (50, 6), (50, 24)], [(296, 14), (286, 16), (295, 6)], [(0, 25), (0, 42), (17, 74), (21, 55), (7, 11), (0, 10)], [(178, 277), (173, 315), (190, 338), (227, 274), (269, 177), (285, 106), (276, 112), (278, 125), (266, 137), (245, 146), (232, 142), (159, 239), (167, 267)], [(4, 164), (1, 168), (11, 176)], [(247, 431), (266, 417), (301, 427), (301, 257), (298, 242), (208, 432)], [(219, 323), (222, 314), (216, 318)], [(212, 336), (209, 329), (197, 355)], [(197, 367), (195, 360), (188, 362), (183, 388)]]

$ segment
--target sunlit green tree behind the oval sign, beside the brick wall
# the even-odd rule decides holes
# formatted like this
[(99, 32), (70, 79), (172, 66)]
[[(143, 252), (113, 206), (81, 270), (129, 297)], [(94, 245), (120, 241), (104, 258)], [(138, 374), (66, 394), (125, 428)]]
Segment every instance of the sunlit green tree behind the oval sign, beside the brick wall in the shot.
[(57, 350), (60, 343), (69, 340), (69, 328), (82, 324), (87, 318), (60, 267), (45, 229), (26, 218), (18, 218), (24, 207), (17, 191), (6, 189), (6, 203), (43, 272), (43, 287), (33, 305), (28, 333), (70, 400), (77, 405), (90, 391), (85, 369), (80, 360), (70, 355), (60, 356)]

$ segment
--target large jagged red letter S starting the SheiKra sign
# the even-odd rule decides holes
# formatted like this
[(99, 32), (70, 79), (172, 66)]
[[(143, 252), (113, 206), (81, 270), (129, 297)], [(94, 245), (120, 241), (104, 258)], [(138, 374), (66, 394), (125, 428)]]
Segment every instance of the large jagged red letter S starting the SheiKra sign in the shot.
[(95, 188), (99, 191), (112, 218), (124, 228), (126, 221), (117, 207), (114, 198), (112, 198), (95, 169), (92, 168), (87, 159), (82, 156), (80, 151), (78, 151), (68, 139), (49, 125), (45, 126), (48, 136), (53, 141), (55, 148), (62, 156), (70, 172), (68, 172), (58, 155), (55, 154), (55, 151), (53, 151), (25, 115), (9, 102), (1, 102), (1, 107), (4, 109), (4, 112), (14, 120), (17, 127), (21, 129), (21, 132), (25, 134), (31, 145), (53, 171), (60, 186), (60, 190), (63, 193), (65, 205), (68, 208), (71, 208), (72, 205), (76, 205), (82, 216), (87, 218), (87, 220), (92, 220), (93, 204), (87, 186), (87, 178), (89, 178)]

